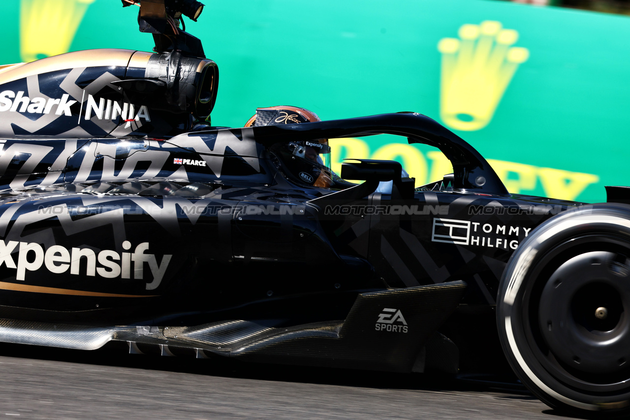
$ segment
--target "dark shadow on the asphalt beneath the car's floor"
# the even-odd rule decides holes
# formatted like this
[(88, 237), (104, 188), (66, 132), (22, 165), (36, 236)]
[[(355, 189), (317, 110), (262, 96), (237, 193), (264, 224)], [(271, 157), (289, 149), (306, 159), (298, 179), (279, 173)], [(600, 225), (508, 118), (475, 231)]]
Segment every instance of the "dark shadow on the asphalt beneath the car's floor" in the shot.
[[(493, 391), (513, 394), (515, 399), (536, 400), (536, 397), (521, 385), (511, 372), (503, 376), (447, 375), (444, 373), (389, 373), (311, 366), (268, 365), (246, 363), (223, 356), (195, 359), (154, 354), (128, 354), (125, 342), (110, 342), (107, 346), (94, 351), (3, 343), (0, 344), (0, 356), (86, 365), (118, 366), (140, 370), (171, 371), (192, 375), (348, 387), (449, 392)], [(510, 395), (505, 395), (504, 398), (509, 399)]]

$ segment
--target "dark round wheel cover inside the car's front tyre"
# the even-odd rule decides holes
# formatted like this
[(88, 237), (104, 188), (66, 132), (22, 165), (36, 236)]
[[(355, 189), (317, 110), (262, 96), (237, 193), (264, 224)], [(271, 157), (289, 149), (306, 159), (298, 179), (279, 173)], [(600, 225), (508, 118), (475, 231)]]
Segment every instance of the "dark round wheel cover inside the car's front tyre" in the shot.
[(544, 370), (578, 392), (630, 390), (630, 244), (609, 235), (549, 251), (525, 293), (524, 333)]

